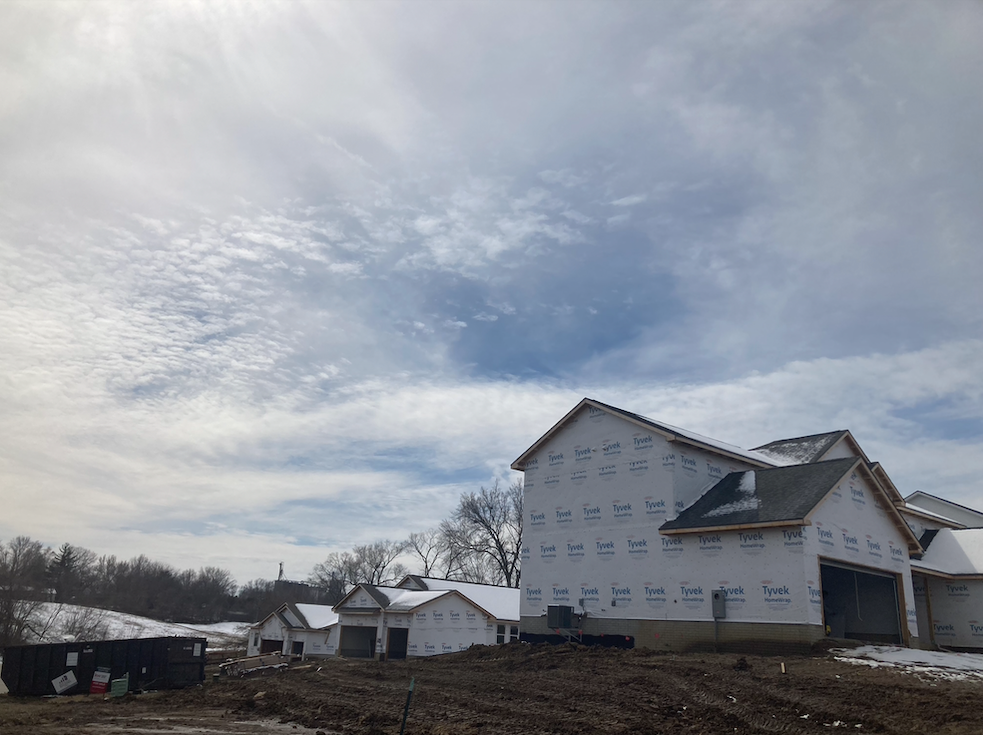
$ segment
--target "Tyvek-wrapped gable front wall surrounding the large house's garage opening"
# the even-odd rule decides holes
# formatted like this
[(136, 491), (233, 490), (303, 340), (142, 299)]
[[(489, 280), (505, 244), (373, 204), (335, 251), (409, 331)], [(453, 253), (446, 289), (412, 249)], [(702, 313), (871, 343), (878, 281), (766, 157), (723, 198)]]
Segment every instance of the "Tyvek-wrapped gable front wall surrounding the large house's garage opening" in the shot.
[[(908, 545), (885, 506), (867, 481), (851, 473), (837, 485), (812, 514), (814, 533), (807, 534), (810, 558), (822, 556), (901, 577), (901, 593), (911, 645), (918, 646), (918, 616), (911, 580)], [(819, 580), (819, 563), (807, 569), (808, 579)], [(810, 583), (811, 584), (811, 583)], [(820, 593), (821, 594), (821, 593)], [(813, 606), (810, 622), (822, 621), (822, 597)]]

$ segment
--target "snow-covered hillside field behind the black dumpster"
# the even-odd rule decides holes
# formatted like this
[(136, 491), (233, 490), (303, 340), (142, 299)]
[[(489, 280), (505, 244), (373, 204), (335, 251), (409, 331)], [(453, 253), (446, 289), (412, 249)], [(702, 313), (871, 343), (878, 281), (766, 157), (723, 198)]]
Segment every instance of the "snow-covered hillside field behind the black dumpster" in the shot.
[(66, 640), (117, 640), (167, 636), (208, 639), (208, 648), (245, 647), (249, 623), (166, 623), (139, 615), (57, 602), (42, 604), (32, 616), (38, 643)]

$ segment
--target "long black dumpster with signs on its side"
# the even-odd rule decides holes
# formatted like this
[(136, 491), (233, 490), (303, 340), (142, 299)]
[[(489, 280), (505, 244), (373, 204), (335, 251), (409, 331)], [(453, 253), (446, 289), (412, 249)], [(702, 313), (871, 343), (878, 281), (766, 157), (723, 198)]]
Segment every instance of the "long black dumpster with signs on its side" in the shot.
[(124, 677), (131, 692), (180, 689), (204, 682), (206, 644), (204, 638), (133, 638), (8, 646), (0, 679), (13, 696), (87, 694), (93, 678), (94, 691)]

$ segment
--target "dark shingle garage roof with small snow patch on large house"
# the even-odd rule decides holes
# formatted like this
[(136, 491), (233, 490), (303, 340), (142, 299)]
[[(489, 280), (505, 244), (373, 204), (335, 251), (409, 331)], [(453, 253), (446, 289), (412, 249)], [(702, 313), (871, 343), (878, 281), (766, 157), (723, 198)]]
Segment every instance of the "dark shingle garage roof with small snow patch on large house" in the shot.
[(660, 530), (719, 528), (805, 518), (857, 462), (826, 462), (731, 472)]

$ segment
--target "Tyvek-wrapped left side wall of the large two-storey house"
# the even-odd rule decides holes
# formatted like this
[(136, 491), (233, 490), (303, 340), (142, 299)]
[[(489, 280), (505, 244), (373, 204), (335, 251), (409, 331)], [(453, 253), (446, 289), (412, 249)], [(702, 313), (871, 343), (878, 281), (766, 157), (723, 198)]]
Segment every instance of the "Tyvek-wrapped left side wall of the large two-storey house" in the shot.
[(589, 409), (526, 462), (523, 616), (582, 600), (597, 618), (712, 620), (710, 592), (723, 587), (728, 620), (821, 623), (812, 527), (658, 532), (750, 464)]

